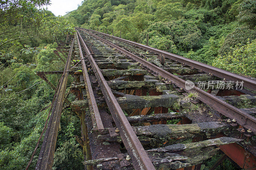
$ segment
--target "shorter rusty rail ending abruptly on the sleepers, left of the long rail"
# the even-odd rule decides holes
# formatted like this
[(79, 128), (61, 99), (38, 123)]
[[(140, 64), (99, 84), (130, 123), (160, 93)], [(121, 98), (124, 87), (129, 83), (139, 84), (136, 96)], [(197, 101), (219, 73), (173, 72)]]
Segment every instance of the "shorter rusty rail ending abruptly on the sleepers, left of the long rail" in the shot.
[(83, 70), (83, 76), (84, 76), (84, 83), (85, 83), (86, 95), (87, 95), (88, 102), (89, 102), (89, 108), (91, 111), (92, 123), (94, 124), (96, 122), (96, 125), (97, 125), (96, 129), (99, 131), (102, 131), (102, 130), (104, 130), (104, 127), (103, 127), (103, 124), (102, 124), (102, 121), (100, 118), (100, 112), (97, 107), (97, 103), (96, 103), (96, 100), (95, 100), (95, 97), (94, 97), (94, 94), (92, 91), (92, 85), (91, 85), (90, 78), (89, 78), (89, 75), (87, 72), (87, 68), (86, 68), (85, 61), (84, 61), (84, 55), (83, 55), (81, 44), (80, 44), (77, 34), (76, 34), (76, 37), (77, 37), (77, 41), (78, 41), (80, 57), (82, 60), (81, 64), (82, 64), (82, 70)]

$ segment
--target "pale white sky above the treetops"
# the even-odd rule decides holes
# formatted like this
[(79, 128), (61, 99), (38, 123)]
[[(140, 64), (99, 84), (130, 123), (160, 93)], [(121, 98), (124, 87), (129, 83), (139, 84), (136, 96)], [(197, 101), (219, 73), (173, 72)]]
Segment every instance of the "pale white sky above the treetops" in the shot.
[[(51, 5), (47, 5), (49, 11), (55, 16), (66, 15), (66, 12), (76, 10), (78, 4), (81, 5), (83, 0), (51, 0)], [(44, 6), (46, 8), (46, 6)]]

